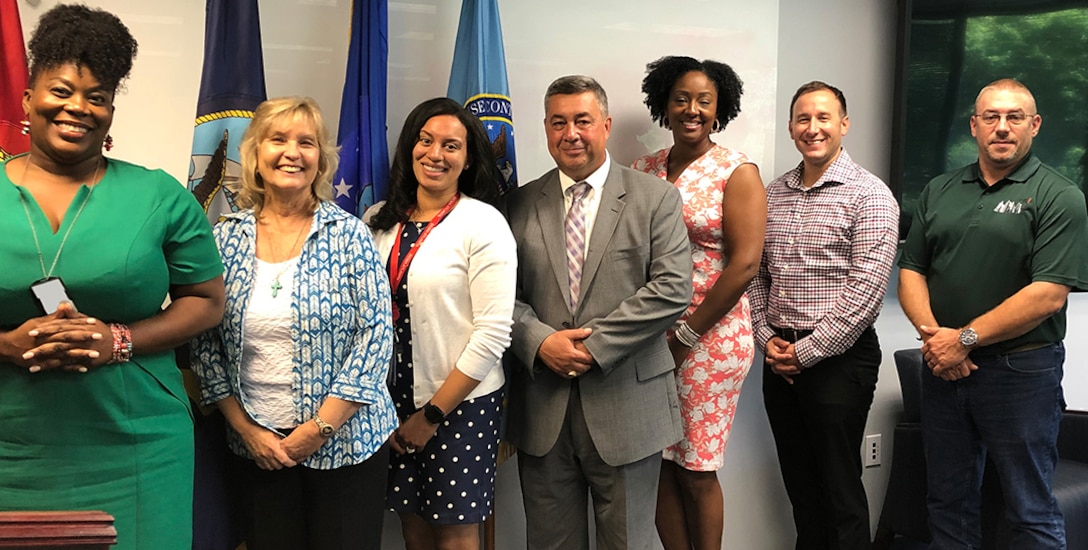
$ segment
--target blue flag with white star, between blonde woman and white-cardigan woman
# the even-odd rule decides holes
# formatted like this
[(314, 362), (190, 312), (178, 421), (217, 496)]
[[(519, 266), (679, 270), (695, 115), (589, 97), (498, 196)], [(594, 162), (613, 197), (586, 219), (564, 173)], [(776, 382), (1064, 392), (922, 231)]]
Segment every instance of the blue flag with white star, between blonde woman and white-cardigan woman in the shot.
[(385, 200), (390, 150), (385, 140), (385, 83), (390, 58), (386, 0), (351, 2), (351, 45), (341, 101), (341, 162), (333, 178), (336, 204), (355, 215)]

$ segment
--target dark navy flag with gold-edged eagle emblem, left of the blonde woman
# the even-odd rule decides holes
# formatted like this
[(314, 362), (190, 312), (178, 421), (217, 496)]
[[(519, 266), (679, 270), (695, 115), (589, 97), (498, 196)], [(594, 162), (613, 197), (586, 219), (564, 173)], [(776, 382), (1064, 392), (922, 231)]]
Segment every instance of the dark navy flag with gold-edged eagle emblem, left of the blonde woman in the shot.
[(257, 0), (208, 0), (188, 187), (212, 224), (237, 210), (238, 145), (267, 99)]

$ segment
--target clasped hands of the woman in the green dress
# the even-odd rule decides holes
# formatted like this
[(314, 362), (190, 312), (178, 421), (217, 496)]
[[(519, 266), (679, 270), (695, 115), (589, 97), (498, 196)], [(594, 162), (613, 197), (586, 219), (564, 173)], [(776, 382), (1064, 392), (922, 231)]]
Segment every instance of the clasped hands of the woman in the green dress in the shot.
[(32, 373), (62, 370), (86, 373), (110, 361), (113, 336), (101, 321), (64, 302), (55, 312), (27, 320), (8, 334), (18, 366)]

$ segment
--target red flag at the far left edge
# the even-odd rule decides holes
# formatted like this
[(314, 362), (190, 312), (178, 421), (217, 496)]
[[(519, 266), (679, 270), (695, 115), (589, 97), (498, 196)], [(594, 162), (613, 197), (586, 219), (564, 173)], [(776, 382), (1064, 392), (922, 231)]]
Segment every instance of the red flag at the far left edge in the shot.
[(26, 50), (16, 0), (0, 0), (0, 161), (30, 150), (23, 135), (23, 91), (26, 90)]

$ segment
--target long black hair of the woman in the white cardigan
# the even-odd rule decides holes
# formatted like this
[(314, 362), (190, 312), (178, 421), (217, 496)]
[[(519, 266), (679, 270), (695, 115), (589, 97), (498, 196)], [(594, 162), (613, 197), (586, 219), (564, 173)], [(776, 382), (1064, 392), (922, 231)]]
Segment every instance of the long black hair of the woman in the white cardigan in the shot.
[(412, 172), (412, 149), (416, 148), (419, 132), (426, 121), (444, 114), (456, 116), (465, 125), (468, 134), (468, 143), (465, 147), (468, 153), (467, 162), (457, 178), (457, 190), (461, 195), (492, 205), (497, 203), (503, 174), (495, 164), (495, 154), (491, 150), (491, 140), (483, 123), (449, 98), (429, 99), (412, 109), (405, 118), (404, 129), (397, 139), (397, 148), (393, 152), (388, 199), (370, 220), (370, 226), (374, 229), (385, 230), (408, 221), (408, 210), (416, 205), (416, 190), (419, 188), (416, 173)]

